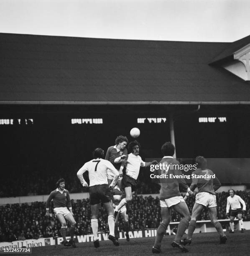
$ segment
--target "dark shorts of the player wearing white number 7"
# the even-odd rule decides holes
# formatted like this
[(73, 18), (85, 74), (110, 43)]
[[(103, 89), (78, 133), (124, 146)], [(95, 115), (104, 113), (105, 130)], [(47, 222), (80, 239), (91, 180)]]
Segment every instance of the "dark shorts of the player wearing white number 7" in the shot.
[(97, 205), (99, 204), (100, 200), (103, 203), (110, 202), (111, 200), (111, 192), (107, 184), (89, 187), (90, 205)]

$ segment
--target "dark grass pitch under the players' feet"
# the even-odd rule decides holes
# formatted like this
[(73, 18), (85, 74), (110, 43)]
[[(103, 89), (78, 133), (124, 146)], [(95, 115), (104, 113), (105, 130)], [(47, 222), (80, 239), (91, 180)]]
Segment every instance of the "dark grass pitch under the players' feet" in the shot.
[[(250, 230), (245, 233), (235, 231), (234, 234), (226, 233), (227, 243), (219, 244), (218, 233), (196, 233), (191, 245), (186, 246), (188, 253), (181, 253), (178, 248), (171, 247), (174, 236), (164, 236), (161, 253), (153, 254), (152, 246), (155, 238), (131, 238), (130, 242), (120, 239), (120, 246), (114, 246), (111, 241), (100, 241), (100, 247), (94, 248), (93, 242), (76, 243), (77, 248), (59, 246), (44, 246), (32, 248), (33, 255), (90, 255), (90, 256), (127, 256), (127, 255), (250, 255)], [(184, 235), (186, 237), (186, 235)]]

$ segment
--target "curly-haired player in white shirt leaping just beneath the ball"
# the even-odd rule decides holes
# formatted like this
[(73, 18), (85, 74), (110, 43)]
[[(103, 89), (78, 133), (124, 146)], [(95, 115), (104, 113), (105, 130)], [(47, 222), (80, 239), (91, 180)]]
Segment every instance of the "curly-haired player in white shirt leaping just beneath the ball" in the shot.
[[(118, 211), (123, 205), (132, 200), (132, 188), (137, 184), (136, 179), (138, 178), (140, 167), (149, 166), (151, 164), (158, 164), (156, 160), (145, 163), (139, 156), (140, 143), (138, 141), (132, 141), (128, 144), (128, 159), (126, 161), (126, 174), (122, 179), (122, 188), (125, 189), (126, 197), (121, 200), (119, 205), (115, 208), (115, 217)], [(122, 161), (122, 156), (115, 159), (115, 163)], [(121, 176), (122, 174), (120, 174)]]

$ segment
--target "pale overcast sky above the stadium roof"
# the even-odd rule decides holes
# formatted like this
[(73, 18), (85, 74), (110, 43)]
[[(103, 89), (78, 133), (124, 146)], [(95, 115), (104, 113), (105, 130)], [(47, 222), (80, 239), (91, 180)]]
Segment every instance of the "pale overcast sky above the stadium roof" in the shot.
[(0, 33), (232, 42), (250, 35), (249, 0), (0, 0)]

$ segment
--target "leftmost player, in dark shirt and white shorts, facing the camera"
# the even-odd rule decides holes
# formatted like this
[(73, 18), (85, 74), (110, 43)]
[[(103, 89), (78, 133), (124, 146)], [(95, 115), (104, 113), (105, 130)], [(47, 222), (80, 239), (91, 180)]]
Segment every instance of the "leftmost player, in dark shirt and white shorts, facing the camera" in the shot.
[[(46, 201), (46, 214), (45, 216), (49, 216), (49, 203), (53, 199), (54, 204), (54, 214), (56, 218), (61, 223), (61, 236), (63, 237), (64, 241), (62, 244), (64, 246), (73, 246), (76, 247), (74, 242), (74, 231), (76, 227), (76, 221), (73, 217), (70, 197), (69, 197), (69, 191), (66, 190), (65, 187), (65, 180), (59, 179), (56, 182), (57, 189), (52, 191)], [(69, 210), (68, 210), (69, 208)], [(68, 242), (66, 240), (66, 220), (71, 223), (70, 227), (70, 241)]]

